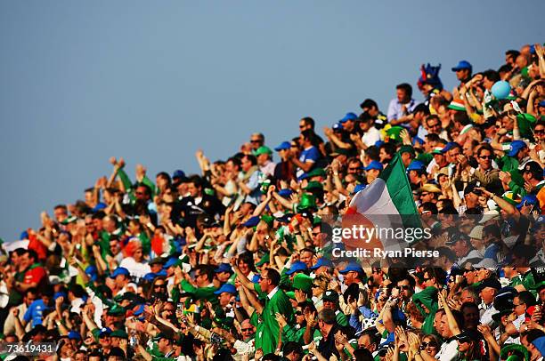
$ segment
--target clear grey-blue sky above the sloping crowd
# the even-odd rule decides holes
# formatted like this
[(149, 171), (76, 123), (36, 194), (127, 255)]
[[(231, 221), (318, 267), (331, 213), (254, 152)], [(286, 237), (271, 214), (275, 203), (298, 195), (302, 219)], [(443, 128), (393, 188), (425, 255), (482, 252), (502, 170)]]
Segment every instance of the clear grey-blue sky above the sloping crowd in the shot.
[[(426, 5), (427, 4), (427, 5)], [(196, 172), (251, 132), (275, 146), (365, 98), (386, 109), (419, 66), (498, 68), (543, 41), (542, 1), (0, 2), (0, 237), (110, 174)], [(419, 94), (417, 96), (419, 99)]]

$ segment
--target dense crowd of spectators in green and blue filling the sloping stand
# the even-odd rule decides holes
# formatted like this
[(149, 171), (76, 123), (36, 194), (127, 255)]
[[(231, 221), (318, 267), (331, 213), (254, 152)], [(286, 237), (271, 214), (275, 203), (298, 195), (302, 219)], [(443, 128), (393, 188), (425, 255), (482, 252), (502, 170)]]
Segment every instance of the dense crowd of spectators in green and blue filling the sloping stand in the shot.
[[(386, 115), (366, 99), (324, 138), (306, 116), (273, 147), (254, 133), (224, 160), (198, 151), (200, 174), (139, 164), (131, 180), (112, 157), (84, 200), (4, 244), (2, 341), (53, 342), (43, 360), (541, 360), (543, 56), (461, 60), (451, 92), (428, 64), (424, 102), (399, 84)], [(334, 260), (321, 220), (395, 157), (419, 213), (457, 215), (468, 237), (435, 228), (441, 267)], [(534, 217), (506, 237), (500, 215)]]

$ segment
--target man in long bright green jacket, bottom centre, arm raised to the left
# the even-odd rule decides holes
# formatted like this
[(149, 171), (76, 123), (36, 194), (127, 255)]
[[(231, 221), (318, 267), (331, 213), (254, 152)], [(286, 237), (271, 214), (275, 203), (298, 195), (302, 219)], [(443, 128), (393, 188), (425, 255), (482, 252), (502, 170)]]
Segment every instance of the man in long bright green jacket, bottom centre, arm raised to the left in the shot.
[(276, 314), (284, 315), (288, 323), (294, 322), (293, 308), (289, 298), (278, 287), (281, 276), (275, 269), (265, 269), (259, 283), (254, 284), (240, 272), (236, 262), (233, 262), (232, 268), (244, 287), (250, 291), (256, 291), (258, 296), (264, 299), (264, 309), (256, 333), (256, 349), (263, 349), (264, 355), (272, 353), (279, 346), (280, 326), (275, 318)]

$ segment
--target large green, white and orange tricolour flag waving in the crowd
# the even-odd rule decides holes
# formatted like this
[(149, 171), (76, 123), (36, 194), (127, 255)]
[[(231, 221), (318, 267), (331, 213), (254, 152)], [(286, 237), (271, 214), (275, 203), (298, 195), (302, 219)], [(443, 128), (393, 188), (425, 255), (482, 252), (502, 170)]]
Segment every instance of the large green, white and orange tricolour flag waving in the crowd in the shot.
[[(343, 218), (343, 228), (363, 224), (375, 229), (421, 228), (419, 213), (401, 156), (396, 154), (386, 169), (369, 187), (355, 194)], [(376, 233), (378, 235), (378, 232)], [(362, 247), (344, 240), (347, 248)], [(366, 248), (399, 247), (399, 240), (387, 236), (374, 237)]]

